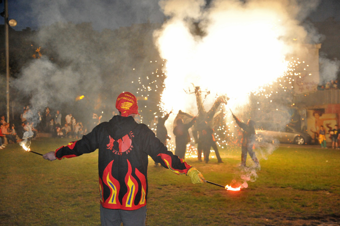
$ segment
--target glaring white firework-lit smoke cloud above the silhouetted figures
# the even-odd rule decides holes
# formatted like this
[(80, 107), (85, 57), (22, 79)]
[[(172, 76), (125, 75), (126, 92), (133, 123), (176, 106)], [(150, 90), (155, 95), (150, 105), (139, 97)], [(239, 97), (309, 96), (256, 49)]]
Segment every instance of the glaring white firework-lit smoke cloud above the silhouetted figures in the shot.
[(205, 6), (200, 0), (160, 1), (168, 20), (154, 37), (161, 57), (168, 61), (162, 96), (167, 110), (175, 105), (192, 109), (194, 96), (183, 92), (183, 87), (192, 88), (190, 83), (211, 91), (207, 107), (216, 94), (247, 103), (249, 92), (283, 76), (289, 56), (303, 58), (308, 54), (304, 44), (320, 41), (322, 36), (301, 22), (318, 4), (217, 0)]

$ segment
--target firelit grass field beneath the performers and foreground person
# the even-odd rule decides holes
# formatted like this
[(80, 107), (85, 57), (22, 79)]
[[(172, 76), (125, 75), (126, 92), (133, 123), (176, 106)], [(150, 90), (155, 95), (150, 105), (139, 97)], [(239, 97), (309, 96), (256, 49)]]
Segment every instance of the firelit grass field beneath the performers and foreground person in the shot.
[[(31, 149), (44, 154), (67, 142), (40, 138)], [(240, 149), (220, 153), (222, 164), (186, 161), (207, 180), (230, 184), (241, 174)], [(150, 159), (146, 224), (340, 225), (340, 150), (279, 147), (267, 157), (239, 192), (192, 184)], [(9, 144), (0, 161), (1, 225), (100, 225), (98, 152), (50, 162)]]

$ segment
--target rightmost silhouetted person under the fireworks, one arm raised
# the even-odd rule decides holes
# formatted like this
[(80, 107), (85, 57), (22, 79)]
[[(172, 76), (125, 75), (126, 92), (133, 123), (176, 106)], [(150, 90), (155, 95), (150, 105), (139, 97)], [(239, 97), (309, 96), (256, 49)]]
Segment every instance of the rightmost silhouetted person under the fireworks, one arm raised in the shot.
[(256, 157), (256, 154), (253, 152), (253, 146), (255, 143), (255, 122), (252, 120), (248, 120), (248, 122), (242, 123), (237, 119), (237, 117), (232, 114), (232, 117), (235, 119), (236, 124), (241, 128), (242, 130), (242, 154), (241, 154), (241, 165), (240, 166), (245, 166), (245, 161), (247, 160), (247, 153), (249, 153), (252, 161), (255, 163), (255, 166), (257, 168), (260, 168), (260, 163), (258, 158)]

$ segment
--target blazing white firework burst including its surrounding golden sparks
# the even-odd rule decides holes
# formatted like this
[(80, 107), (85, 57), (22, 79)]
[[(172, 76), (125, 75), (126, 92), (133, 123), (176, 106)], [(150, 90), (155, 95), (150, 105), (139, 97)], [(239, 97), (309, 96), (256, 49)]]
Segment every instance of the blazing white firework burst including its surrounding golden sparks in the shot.
[[(196, 116), (195, 95), (186, 91), (195, 86), (209, 91), (204, 97), (206, 109), (218, 96), (226, 95), (228, 106), (220, 105), (223, 118), (214, 129), (218, 146), (228, 148), (238, 137), (228, 108), (243, 119), (250, 117), (249, 112), (265, 114), (269, 104), (278, 111), (294, 106), (293, 90), (313, 77), (306, 63), (309, 59), (304, 57), (309, 51), (308, 34), (295, 19), (299, 7), (285, 1), (214, 1), (208, 8), (204, 1), (189, 2), (161, 2), (169, 19), (154, 37), (164, 61), (152, 75), (138, 80), (138, 95), (149, 98), (157, 93), (160, 99), (141, 109), (154, 117), (171, 110)], [(296, 53), (299, 58), (292, 57)], [(314, 74), (318, 80), (318, 72)], [(175, 114), (165, 123), (170, 135)], [(155, 131), (156, 119), (144, 121), (148, 122)], [(174, 139), (168, 144), (170, 150), (173, 144)], [(189, 156), (197, 156), (194, 145), (193, 141), (188, 144)]]

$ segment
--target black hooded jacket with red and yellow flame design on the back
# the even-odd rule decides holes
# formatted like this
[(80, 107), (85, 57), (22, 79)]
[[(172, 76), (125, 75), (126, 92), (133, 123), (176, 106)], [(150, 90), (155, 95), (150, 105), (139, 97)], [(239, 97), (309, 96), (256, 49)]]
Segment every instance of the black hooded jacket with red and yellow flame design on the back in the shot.
[(55, 151), (57, 159), (72, 158), (99, 149), (100, 201), (110, 209), (134, 210), (146, 205), (148, 156), (177, 174), (191, 168), (174, 155), (144, 124), (132, 117), (114, 116), (81, 140)]

